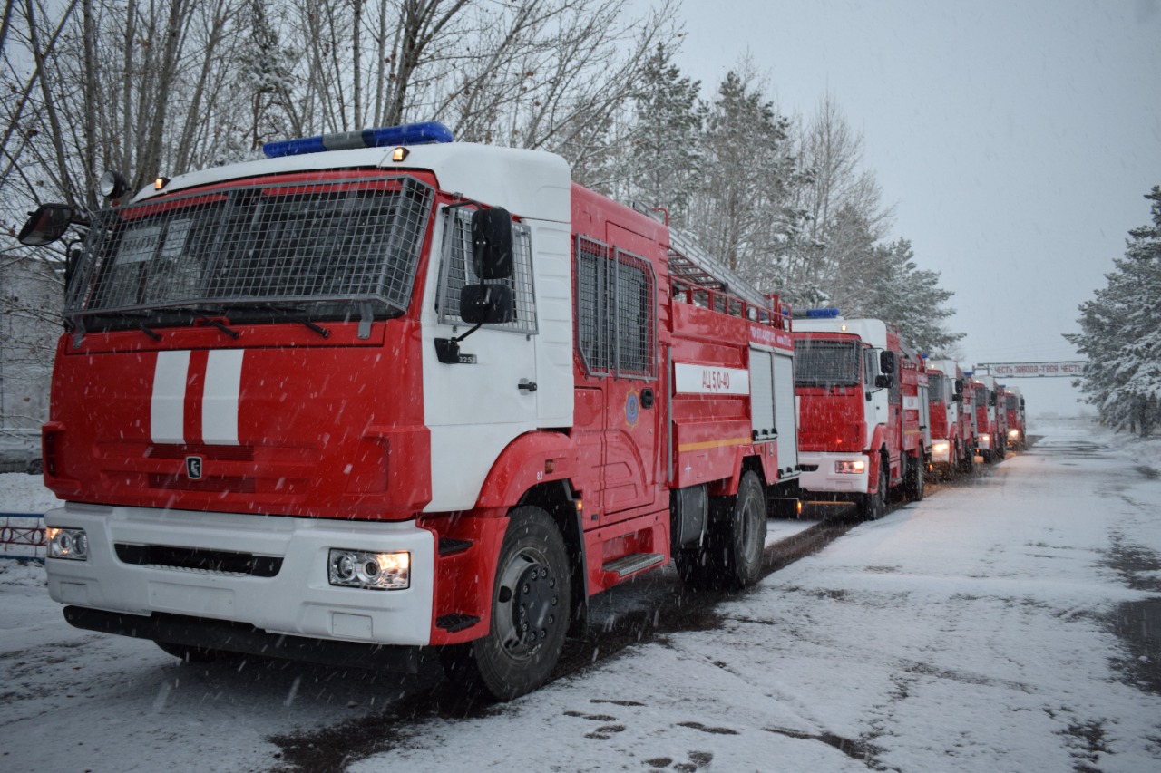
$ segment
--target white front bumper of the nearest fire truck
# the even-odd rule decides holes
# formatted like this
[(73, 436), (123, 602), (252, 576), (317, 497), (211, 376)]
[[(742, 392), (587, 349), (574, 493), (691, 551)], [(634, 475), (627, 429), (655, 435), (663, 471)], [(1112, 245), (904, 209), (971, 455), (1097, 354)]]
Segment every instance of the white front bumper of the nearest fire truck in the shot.
[[(87, 561), (48, 558), (49, 595), (63, 604), (147, 615), (167, 612), (250, 623), (272, 634), (425, 645), (431, 637), (434, 546), (413, 522), (332, 521), (70, 503), (46, 526), (82, 528)], [(271, 556), (274, 577), (122, 562), (116, 543)], [(411, 586), (337, 587), (331, 548), (411, 552)]]

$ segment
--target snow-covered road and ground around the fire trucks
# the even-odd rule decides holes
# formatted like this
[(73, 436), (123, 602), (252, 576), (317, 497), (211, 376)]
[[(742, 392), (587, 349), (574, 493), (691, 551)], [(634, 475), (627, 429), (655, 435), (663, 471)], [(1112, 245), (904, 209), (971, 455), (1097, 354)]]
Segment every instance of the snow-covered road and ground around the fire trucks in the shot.
[[(0, 561), (0, 767), (1161, 770), (1161, 441), (1033, 433), (701, 624), (462, 713), (431, 708), (432, 669), (193, 666), (75, 630), (38, 565)], [(35, 481), (0, 476), (0, 511), (51, 505)]]

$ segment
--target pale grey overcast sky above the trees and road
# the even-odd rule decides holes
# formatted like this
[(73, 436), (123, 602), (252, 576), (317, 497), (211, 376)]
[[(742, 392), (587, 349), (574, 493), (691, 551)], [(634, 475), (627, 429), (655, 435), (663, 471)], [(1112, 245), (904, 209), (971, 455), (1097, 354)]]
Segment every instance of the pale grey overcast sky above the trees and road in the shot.
[[(648, 0), (640, 0), (649, 5)], [(1161, 185), (1158, 0), (684, 0), (677, 64), (712, 96), (749, 53), (785, 115), (829, 91), (954, 290), (967, 364), (1074, 360), (1061, 338)], [(1067, 380), (1011, 380), (1033, 413)]]

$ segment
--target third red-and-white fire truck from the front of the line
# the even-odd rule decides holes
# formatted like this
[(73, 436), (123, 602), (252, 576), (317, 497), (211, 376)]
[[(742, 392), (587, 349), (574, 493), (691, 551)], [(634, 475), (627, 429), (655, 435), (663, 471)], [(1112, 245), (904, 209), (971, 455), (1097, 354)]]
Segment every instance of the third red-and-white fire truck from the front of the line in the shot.
[[(954, 360), (928, 360), (931, 402), (931, 464), (943, 472), (971, 472), (975, 457), (971, 389)], [(971, 382), (968, 382), (971, 383)]]

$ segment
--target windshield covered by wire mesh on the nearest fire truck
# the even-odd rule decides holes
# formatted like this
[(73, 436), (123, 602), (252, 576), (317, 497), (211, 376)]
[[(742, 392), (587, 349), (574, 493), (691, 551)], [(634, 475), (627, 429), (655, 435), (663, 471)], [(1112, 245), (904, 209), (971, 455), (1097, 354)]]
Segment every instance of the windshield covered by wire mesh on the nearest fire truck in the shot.
[[(100, 212), (65, 301), (88, 328), (189, 310), (344, 318), (406, 310), (434, 192), (408, 176), (200, 190)], [(281, 311), (280, 311), (281, 310)], [(367, 313), (367, 312), (365, 312)]]

